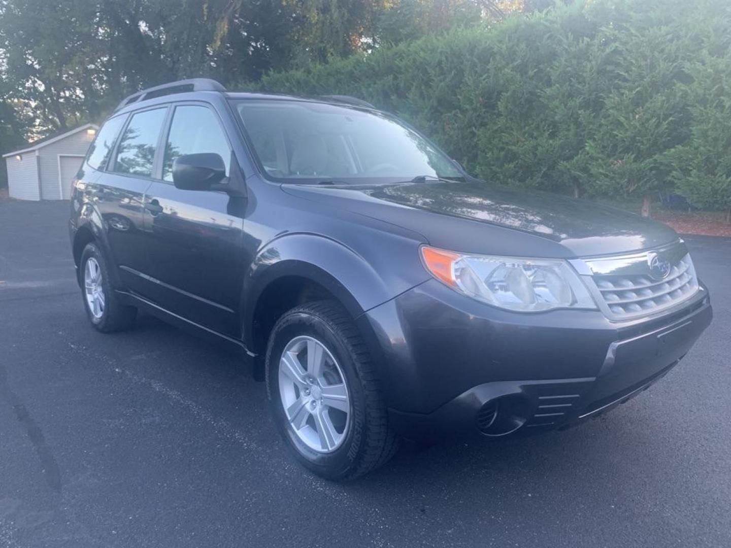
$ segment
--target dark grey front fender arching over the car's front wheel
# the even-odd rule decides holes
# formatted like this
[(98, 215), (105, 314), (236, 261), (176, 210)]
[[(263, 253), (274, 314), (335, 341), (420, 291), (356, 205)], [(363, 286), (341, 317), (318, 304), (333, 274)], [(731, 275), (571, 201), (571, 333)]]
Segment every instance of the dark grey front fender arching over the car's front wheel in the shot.
[(419, 242), (395, 235), (371, 236), (361, 241), (359, 251), (308, 233), (281, 235), (262, 247), (244, 278), (246, 346), (251, 348), (257, 301), (270, 283), (284, 276), (319, 283), (353, 318), (430, 278), (421, 265)]

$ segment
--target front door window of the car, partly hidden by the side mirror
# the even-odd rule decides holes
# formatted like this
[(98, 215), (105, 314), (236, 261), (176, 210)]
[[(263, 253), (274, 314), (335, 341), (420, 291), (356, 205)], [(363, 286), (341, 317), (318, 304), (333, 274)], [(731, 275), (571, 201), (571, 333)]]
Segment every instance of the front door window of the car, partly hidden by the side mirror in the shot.
[(185, 104), (175, 107), (167, 134), (162, 178), (173, 180), (173, 161), (183, 154), (213, 152), (221, 156), (229, 173), (231, 148), (218, 118), (208, 107)]

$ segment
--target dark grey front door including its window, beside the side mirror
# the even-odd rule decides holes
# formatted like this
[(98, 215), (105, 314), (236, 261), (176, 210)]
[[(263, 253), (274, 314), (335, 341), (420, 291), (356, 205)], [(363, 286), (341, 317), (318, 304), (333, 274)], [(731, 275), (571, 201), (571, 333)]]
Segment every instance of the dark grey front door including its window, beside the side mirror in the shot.
[(218, 114), (202, 102), (178, 103), (167, 126), (160, 180), (145, 196), (145, 230), (154, 302), (230, 336), (240, 335), (245, 199), (173, 185), (173, 161), (218, 153), (230, 175), (230, 140)]

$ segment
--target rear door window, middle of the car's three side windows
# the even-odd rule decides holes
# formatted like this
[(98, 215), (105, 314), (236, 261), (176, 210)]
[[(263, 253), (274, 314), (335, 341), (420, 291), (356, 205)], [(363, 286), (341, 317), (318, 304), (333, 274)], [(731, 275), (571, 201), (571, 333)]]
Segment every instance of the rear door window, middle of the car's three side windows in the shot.
[(156, 108), (132, 115), (119, 140), (115, 172), (152, 176), (157, 139), (166, 111), (167, 108)]

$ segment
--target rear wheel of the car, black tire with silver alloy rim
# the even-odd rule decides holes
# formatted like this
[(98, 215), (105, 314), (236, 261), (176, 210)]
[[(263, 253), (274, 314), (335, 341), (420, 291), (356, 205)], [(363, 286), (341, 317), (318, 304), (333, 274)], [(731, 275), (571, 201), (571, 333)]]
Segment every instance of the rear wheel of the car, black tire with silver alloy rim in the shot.
[[(96, 244), (86, 245), (81, 254), (79, 269), (81, 295), (91, 325), (102, 333), (128, 329), (135, 321), (137, 308), (126, 305), (115, 293), (110, 283), (107, 262)], [(90, 299), (90, 293), (96, 293), (98, 298)]]

